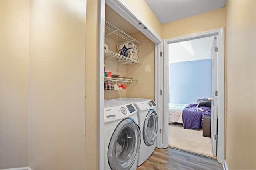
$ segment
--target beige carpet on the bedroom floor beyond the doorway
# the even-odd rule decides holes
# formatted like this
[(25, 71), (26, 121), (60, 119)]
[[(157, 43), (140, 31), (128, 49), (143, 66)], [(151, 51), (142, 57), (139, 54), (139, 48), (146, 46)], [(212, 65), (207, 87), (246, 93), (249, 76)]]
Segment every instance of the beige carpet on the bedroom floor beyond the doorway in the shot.
[(203, 137), (203, 129), (184, 129), (182, 124), (169, 124), (170, 147), (214, 157), (210, 137)]

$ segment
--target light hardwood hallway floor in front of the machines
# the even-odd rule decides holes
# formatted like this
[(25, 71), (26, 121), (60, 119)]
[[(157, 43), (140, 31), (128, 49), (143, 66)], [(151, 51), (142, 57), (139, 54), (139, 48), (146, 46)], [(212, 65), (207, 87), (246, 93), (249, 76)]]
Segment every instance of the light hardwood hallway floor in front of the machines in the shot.
[(223, 167), (214, 158), (168, 147), (156, 148), (137, 170), (223, 170)]

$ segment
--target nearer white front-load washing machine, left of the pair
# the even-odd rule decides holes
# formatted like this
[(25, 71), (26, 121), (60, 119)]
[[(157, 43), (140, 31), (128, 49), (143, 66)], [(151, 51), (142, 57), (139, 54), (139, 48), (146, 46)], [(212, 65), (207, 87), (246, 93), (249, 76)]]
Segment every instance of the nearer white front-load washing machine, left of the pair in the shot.
[(136, 170), (141, 132), (131, 102), (104, 101), (104, 170)]

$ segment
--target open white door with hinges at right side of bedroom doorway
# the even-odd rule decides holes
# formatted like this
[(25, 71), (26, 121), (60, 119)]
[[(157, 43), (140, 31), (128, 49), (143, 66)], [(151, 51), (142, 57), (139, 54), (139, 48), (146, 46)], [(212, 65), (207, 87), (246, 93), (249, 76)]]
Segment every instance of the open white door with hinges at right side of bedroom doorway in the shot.
[(211, 141), (213, 156), (217, 156), (217, 109), (218, 109), (218, 63), (217, 63), (217, 37), (212, 43), (212, 117), (211, 117)]

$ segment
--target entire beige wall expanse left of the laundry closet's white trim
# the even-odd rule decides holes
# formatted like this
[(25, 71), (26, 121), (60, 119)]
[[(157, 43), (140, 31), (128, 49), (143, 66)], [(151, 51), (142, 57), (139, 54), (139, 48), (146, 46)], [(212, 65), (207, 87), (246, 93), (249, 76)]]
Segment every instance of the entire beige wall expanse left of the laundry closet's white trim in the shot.
[(0, 0), (0, 169), (98, 169), (98, 3), (87, 8), (86, 27), (86, 0)]

